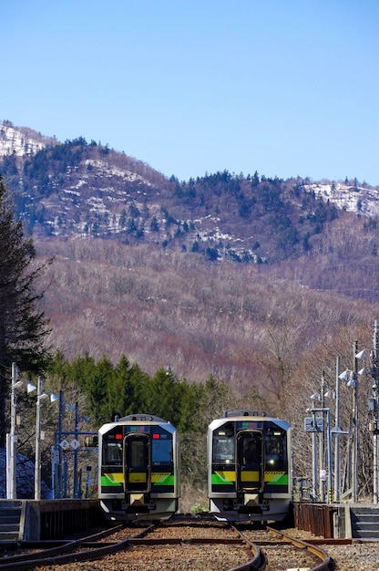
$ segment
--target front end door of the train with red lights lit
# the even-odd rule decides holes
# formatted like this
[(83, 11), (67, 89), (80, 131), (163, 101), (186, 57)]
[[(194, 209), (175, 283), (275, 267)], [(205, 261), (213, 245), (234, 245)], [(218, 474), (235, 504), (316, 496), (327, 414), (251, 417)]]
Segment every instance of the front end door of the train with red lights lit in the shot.
[(124, 439), (125, 492), (150, 491), (150, 439), (149, 434), (130, 433)]

